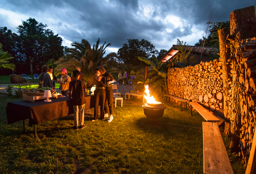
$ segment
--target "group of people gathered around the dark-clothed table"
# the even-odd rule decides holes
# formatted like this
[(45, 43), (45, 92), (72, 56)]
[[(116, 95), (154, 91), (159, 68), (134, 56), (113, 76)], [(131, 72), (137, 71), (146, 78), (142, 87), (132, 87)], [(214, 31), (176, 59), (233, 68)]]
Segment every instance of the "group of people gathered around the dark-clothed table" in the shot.
[[(92, 121), (97, 121), (99, 115), (100, 106), (100, 120), (105, 120), (108, 117), (107, 123), (113, 120), (113, 89), (112, 83), (115, 82), (113, 76), (110, 73), (106, 73), (103, 67), (98, 67), (94, 70), (95, 77), (90, 85), (85, 84), (85, 79), (83, 73), (80, 72), (81, 68), (76, 67), (73, 71), (73, 76), (70, 78), (68, 76), (66, 69), (61, 69), (61, 78), (58, 79), (54, 76), (52, 67), (47, 67), (44, 65), (42, 67), (42, 73), (38, 77), (38, 81), (42, 82), (43, 85), (49, 86), (50, 88), (55, 87), (54, 80), (59, 83), (59, 89), (62, 95), (66, 95), (67, 90), (69, 91), (68, 97), (72, 100), (74, 109), (74, 130), (84, 129), (84, 106), (85, 106), (85, 96), (84, 92), (96, 85), (94, 91), (94, 118)], [(126, 73), (126, 71), (125, 71)], [(127, 77), (124, 74), (124, 79)], [(125, 83), (126, 85), (126, 83)], [(108, 116), (108, 110), (110, 116)], [(79, 117), (80, 115), (80, 117)], [(79, 126), (80, 125), (80, 126)]]

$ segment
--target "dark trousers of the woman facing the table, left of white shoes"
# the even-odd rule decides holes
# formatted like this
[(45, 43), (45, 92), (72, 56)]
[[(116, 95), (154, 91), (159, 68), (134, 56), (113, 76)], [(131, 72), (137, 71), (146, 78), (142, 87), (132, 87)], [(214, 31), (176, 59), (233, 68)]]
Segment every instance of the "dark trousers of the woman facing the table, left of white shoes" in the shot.
[(105, 89), (95, 89), (94, 91), (95, 105), (94, 105), (94, 120), (98, 120), (99, 106), (101, 107), (100, 118), (104, 118), (104, 103), (106, 98)]

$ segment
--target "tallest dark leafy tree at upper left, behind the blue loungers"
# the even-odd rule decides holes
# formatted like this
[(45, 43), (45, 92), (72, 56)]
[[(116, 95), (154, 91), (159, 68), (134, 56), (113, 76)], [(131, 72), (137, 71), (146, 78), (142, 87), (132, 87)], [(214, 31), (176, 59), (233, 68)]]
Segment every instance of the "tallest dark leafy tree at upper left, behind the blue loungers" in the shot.
[(33, 74), (33, 64), (43, 65), (49, 59), (57, 60), (63, 54), (62, 39), (54, 35), (47, 25), (38, 23), (34, 18), (22, 21), (17, 27), (21, 58), (30, 64), (30, 73)]

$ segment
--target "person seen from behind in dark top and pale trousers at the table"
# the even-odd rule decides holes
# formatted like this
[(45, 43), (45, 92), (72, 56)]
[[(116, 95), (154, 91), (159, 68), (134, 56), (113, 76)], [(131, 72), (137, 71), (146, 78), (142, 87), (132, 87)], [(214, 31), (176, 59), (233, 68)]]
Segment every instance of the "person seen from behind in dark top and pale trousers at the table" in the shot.
[[(84, 104), (85, 104), (85, 97), (84, 92), (87, 91), (85, 82), (80, 80), (80, 71), (75, 70), (73, 71), (73, 76), (75, 80), (69, 83), (69, 98), (72, 99), (73, 109), (74, 109), (74, 122), (75, 126), (73, 127), (74, 130), (78, 130), (78, 118), (80, 126), (79, 128), (84, 129)], [(72, 98), (71, 98), (72, 97)], [(78, 113), (80, 117), (78, 117)]]

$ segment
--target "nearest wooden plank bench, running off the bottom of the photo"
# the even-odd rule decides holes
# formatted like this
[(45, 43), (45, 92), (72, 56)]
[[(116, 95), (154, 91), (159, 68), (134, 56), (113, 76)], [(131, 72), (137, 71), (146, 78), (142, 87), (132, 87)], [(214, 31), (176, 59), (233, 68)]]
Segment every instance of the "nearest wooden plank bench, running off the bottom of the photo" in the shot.
[(203, 122), (204, 174), (234, 174), (217, 123)]

